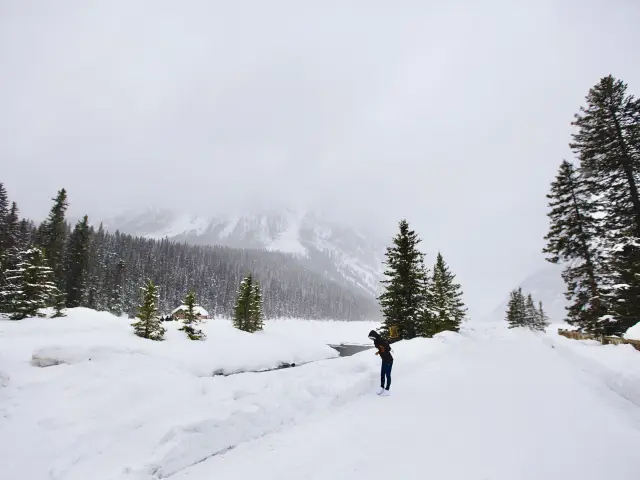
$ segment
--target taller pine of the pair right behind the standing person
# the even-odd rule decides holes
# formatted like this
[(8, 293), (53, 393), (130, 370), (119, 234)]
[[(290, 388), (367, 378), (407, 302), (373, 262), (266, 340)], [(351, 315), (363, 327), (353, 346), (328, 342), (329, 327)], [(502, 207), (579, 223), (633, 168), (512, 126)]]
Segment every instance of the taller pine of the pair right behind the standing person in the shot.
[(399, 339), (411, 339), (424, 329), (420, 326), (426, 295), (424, 254), (417, 248), (421, 240), (406, 220), (400, 221), (399, 229), (393, 246), (387, 248), (385, 291), (378, 299), (384, 315), (383, 334), (388, 336), (390, 328), (396, 327)]

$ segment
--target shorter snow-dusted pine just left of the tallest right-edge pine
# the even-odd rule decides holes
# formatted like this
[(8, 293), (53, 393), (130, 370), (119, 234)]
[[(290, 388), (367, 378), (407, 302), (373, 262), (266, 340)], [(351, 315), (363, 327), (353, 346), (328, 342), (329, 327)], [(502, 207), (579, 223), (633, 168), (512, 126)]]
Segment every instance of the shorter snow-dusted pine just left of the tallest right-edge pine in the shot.
[(567, 322), (588, 331), (597, 331), (606, 311), (606, 289), (601, 279), (602, 258), (598, 254), (601, 229), (598, 205), (591, 199), (587, 184), (566, 160), (551, 184), (548, 213), (551, 225), (543, 250), (551, 263), (567, 262), (562, 272), (567, 290)]

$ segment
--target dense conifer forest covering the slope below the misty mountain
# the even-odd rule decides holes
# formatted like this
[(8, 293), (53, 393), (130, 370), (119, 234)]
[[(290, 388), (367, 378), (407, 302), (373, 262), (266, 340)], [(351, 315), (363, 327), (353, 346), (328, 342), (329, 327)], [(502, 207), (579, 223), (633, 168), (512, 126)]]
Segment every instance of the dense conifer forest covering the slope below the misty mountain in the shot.
[(356, 320), (375, 311), (372, 300), (301, 269), (287, 254), (186, 245), (119, 232), (105, 232), (104, 237), (94, 233), (91, 243), (92, 252), (102, 253), (101, 260), (90, 260), (89, 285), (98, 286), (97, 306), (115, 314), (135, 314), (138, 288), (151, 278), (162, 286), (161, 312), (175, 309), (184, 292), (193, 290), (212, 315), (233, 318), (241, 274), (249, 270), (261, 280), (264, 318)]

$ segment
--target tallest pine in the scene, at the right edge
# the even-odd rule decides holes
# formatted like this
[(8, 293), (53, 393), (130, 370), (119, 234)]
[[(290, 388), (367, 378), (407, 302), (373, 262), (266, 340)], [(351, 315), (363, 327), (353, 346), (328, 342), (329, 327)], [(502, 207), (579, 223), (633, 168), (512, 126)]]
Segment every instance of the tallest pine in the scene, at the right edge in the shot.
[(605, 334), (621, 334), (640, 318), (640, 99), (626, 90), (611, 75), (591, 88), (571, 143), (589, 194), (602, 205), (602, 255), (612, 287)]

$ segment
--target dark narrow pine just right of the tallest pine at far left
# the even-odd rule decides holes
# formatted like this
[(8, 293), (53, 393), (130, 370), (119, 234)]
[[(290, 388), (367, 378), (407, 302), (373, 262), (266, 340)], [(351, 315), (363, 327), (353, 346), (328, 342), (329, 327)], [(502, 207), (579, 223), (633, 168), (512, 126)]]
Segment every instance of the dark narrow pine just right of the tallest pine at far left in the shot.
[(69, 238), (65, 258), (66, 304), (69, 308), (86, 305), (90, 240), (89, 219), (85, 215)]

